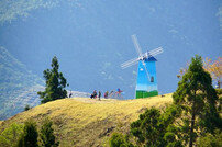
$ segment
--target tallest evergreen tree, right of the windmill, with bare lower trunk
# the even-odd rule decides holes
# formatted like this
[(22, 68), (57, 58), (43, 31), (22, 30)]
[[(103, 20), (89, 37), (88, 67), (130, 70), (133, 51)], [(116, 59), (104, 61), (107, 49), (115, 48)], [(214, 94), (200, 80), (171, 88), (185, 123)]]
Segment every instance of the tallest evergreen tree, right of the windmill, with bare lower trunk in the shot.
[(202, 68), (202, 59), (196, 55), (187, 72), (178, 83), (173, 94), (174, 103), (182, 109), (182, 124), (188, 129), (189, 147), (192, 147), (197, 138), (197, 131), (213, 132), (220, 127), (220, 118), (217, 113), (217, 92), (212, 87), (210, 74)]

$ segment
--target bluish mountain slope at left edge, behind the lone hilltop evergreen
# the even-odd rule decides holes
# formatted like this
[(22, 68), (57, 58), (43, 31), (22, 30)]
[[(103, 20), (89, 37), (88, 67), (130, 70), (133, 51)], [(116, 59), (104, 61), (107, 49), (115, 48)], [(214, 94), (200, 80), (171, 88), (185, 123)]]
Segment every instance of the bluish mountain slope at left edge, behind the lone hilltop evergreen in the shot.
[(0, 120), (23, 111), (26, 104), (38, 104), (36, 92), (43, 90), (43, 84), (40, 77), (0, 47)]

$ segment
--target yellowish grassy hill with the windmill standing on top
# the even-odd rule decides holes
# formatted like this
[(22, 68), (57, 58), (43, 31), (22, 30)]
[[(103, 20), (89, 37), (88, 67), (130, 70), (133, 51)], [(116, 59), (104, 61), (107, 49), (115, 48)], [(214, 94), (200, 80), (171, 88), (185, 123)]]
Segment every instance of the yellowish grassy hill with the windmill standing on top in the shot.
[(0, 132), (14, 122), (23, 123), (32, 117), (40, 125), (49, 117), (60, 146), (107, 146), (111, 133), (129, 132), (129, 124), (137, 120), (146, 108), (162, 109), (171, 101), (171, 94), (125, 101), (89, 98), (57, 100), (0, 122)]

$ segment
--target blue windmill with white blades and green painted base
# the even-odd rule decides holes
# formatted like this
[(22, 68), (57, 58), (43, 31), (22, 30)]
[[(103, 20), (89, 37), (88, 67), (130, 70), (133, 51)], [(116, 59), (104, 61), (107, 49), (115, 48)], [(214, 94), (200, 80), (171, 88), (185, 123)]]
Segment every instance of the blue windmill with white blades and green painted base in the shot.
[(135, 98), (158, 95), (155, 64), (157, 60), (154, 56), (163, 53), (163, 48), (158, 47), (142, 54), (136, 36), (132, 35), (132, 39), (138, 57), (121, 64), (121, 67), (124, 69), (138, 63)]

